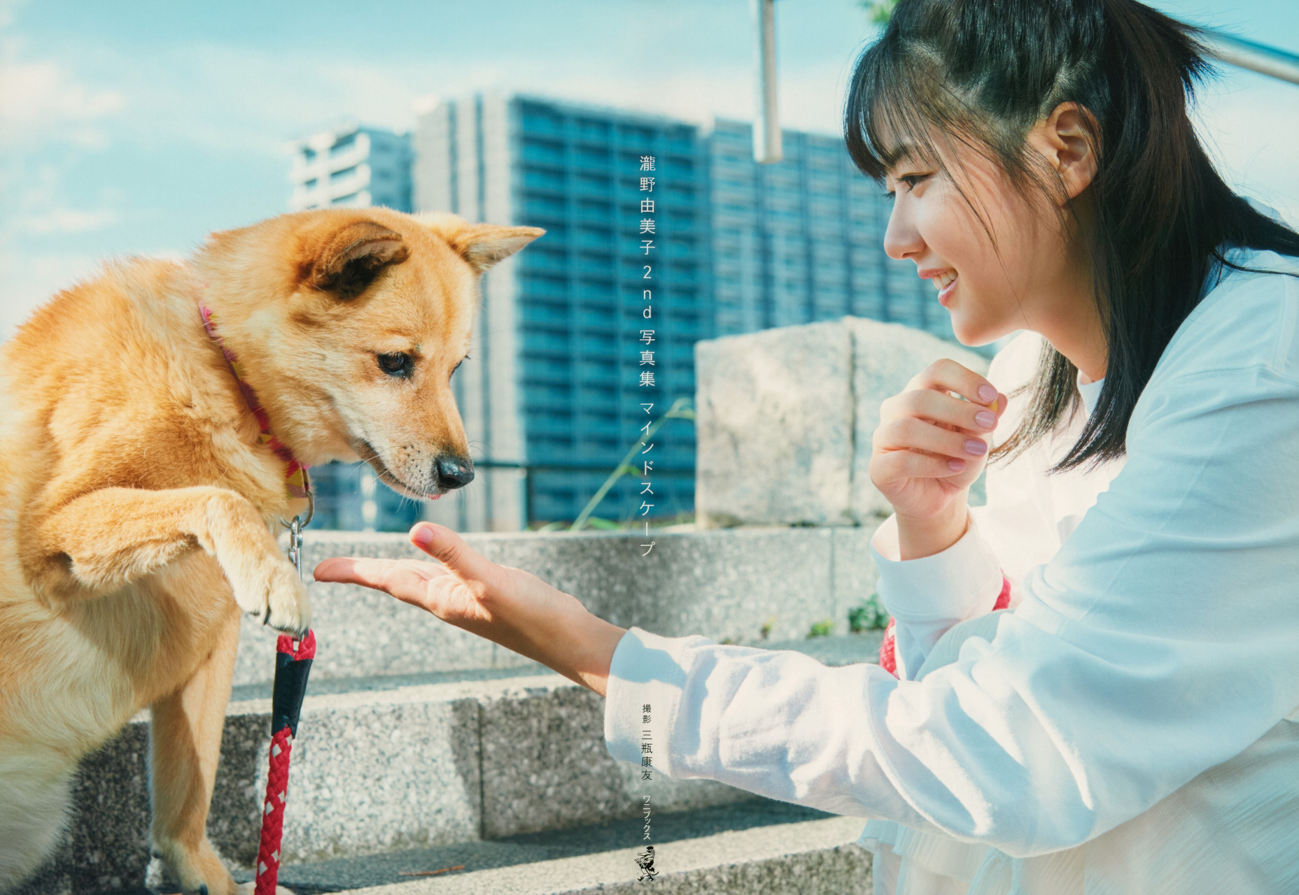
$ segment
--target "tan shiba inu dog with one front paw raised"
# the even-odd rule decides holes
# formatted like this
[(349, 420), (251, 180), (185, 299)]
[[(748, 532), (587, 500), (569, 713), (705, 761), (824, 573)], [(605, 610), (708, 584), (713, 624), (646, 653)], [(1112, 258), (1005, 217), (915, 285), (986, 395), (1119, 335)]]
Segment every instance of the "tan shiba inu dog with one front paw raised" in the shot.
[(284, 455), (360, 458), (412, 497), (473, 479), (449, 379), (478, 275), (543, 232), (287, 214), (187, 263), (110, 265), (4, 345), (0, 891), (57, 843), (78, 760), (145, 706), (156, 853), (187, 894), (252, 891), (205, 828), (239, 611), (310, 623), (275, 542), (304, 510)]

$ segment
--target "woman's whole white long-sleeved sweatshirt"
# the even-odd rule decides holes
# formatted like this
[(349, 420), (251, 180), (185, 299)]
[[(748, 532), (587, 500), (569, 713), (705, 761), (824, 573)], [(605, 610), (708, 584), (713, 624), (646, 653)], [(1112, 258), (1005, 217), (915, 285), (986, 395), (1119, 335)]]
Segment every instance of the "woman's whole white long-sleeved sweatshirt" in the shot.
[[(1229, 258), (1299, 274), (1274, 253)], [(1205, 288), (1121, 470), (1048, 477), (1043, 445), (1037, 468), (989, 468), (989, 503), (948, 550), (898, 562), (881, 527), (904, 680), (633, 628), (609, 754), (640, 764), (648, 737), (670, 777), (886, 821), (863, 841), (902, 834), (916, 878), (883, 885), (907, 895), (934, 873), (981, 894), (1299, 891), (1299, 280), (1228, 271)], [(1000, 390), (1030, 342), (994, 361)], [(905, 680), (992, 608), (1003, 569), (1012, 608), (987, 637)]]

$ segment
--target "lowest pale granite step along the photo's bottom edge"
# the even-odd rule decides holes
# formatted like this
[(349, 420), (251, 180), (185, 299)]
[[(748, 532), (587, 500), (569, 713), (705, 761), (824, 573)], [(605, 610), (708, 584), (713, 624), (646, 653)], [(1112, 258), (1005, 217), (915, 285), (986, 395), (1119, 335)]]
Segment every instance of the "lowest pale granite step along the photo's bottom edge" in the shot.
[[(653, 802), (660, 781), (644, 783)], [(372, 857), (282, 868), (297, 895), (559, 895), (640, 892), (635, 857), (655, 847), (659, 892), (846, 895), (872, 891), (870, 853), (856, 844), (860, 817), (769, 799), (651, 813), (568, 830), (527, 833)], [(238, 873), (240, 881), (251, 873)], [(153, 890), (168, 892), (165, 886)], [(144, 895), (140, 892), (140, 895)]]

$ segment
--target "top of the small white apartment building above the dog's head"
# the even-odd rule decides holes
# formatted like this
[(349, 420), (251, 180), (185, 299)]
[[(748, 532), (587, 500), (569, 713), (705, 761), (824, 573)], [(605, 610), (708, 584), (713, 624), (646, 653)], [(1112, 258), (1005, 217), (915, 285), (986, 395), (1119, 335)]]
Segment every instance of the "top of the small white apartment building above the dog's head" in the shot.
[(294, 211), (369, 205), (410, 210), (409, 135), (346, 125), (297, 140), (291, 149)]

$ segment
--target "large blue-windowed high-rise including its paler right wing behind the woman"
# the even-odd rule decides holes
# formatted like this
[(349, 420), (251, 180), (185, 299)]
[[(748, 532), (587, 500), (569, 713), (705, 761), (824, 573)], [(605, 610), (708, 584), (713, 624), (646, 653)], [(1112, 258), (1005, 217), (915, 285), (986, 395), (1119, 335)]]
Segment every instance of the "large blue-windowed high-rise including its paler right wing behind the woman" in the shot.
[[(453, 380), (479, 479), (433, 518), (464, 529), (573, 519), (646, 422), (638, 344), (647, 262), (640, 160), (653, 157), (652, 416), (694, 396), (694, 342), (855, 314), (952, 339), (914, 265), (882, 249), (879, 188), (839, 137), (705, 126), (520, 95), (439, 102), (414, 135), (414, 206), (544, 227), (490, 270), (472, 361)], [(656, 438), (655, 516), (694, 510), (694, 431)], [(596, 514), (627, 519), (639, 479)]]

